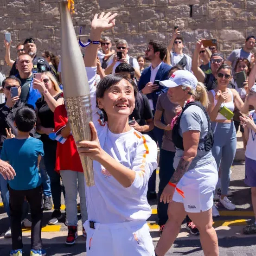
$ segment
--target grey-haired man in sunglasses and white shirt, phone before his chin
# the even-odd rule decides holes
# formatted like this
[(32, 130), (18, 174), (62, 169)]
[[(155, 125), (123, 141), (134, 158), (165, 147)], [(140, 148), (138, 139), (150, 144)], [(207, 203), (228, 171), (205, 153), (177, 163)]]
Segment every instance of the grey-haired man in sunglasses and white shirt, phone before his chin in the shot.
[(115, 68), (120, 64), (120, 63), (128, 63), (131, 66), (134, 67), (135, 70), (135, 77), (137, 79), (140, 79), (141, 77), (141, 71), (140, 71), (140, 66), (139, 63), (137, 61), (136, 58), (132, 58), (128, 55), (128, 43), (126, 40), (124, 39), (120, 39), (117, 43), (116, 43), (116, 51), (117, 52), (122, 52), (122, 58), (119, 59), (117, 57), (117, 54), (115, 55), (115, 57), (113, 58), (113, 60), (109, 63), (108, 67), (105, 69), (105, 74), (109, 75), (109, 74), (115, 74)]

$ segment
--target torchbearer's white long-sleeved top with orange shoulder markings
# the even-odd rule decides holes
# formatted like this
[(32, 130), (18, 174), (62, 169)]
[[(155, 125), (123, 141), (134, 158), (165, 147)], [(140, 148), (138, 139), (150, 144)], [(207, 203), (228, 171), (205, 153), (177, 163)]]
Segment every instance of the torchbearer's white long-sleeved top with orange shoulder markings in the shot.
[(88, 219), (97, 223), (122, 223), (147, 220), (151, 208), (147, 202), (147, 183), (157, 167), (157, 146), (148, 136), (131, 128), (113, 134), (106, 122), (99, 122), (96, 107), (95, 68), (86, 68), (90, 85), (93, 123), (101, 147), (122, 165), (136, 172), (133, 184), (125, 188), (99, 162), (93, 161), (95, 186), (86, 187)]

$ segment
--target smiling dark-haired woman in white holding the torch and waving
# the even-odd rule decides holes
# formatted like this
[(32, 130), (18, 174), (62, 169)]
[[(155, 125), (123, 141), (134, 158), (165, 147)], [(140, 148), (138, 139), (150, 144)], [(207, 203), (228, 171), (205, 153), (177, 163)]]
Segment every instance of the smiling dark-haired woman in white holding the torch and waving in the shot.
[[(97, 42), (101, 33), (115, 25), (111, 13), (95, 15), (84, 63), (90, 85), (93, 122), (91, 141), (77, 142), (78, 152), (93, 160), (95, 186), (86, 186), (88, 256), (154, 256), (147, 218), (147, 182), (157, 167), (157, 147), (147, 135), (128, 124), (133, 112), (136, 84), (123, 75), (104, 77), (97, 88)], [(98, 122), (102, 109), (108, 120)]]

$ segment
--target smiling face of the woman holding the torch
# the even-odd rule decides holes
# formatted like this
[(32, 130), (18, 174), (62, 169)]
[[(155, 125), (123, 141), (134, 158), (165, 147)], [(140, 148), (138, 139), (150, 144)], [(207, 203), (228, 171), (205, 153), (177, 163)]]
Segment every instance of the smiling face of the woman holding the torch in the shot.
[(135, 107), (134, 88), (131, 83), (122, 79), (104, 92), (102, 98), (97, 98), (98, 106), (104, 109), (109, 118), (129, 116)]

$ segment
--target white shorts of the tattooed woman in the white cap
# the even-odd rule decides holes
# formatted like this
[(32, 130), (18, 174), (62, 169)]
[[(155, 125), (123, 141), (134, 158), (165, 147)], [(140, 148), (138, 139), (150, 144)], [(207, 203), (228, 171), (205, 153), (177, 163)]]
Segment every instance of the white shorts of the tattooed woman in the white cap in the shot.
[(217, 182), (218, 169), (215, 161), (189, 170), (177, 184), (185, 198), (175, 190), (173, 201), (183, 203), (186, 212), (208, 211), (213, 205), (213, 191)]

